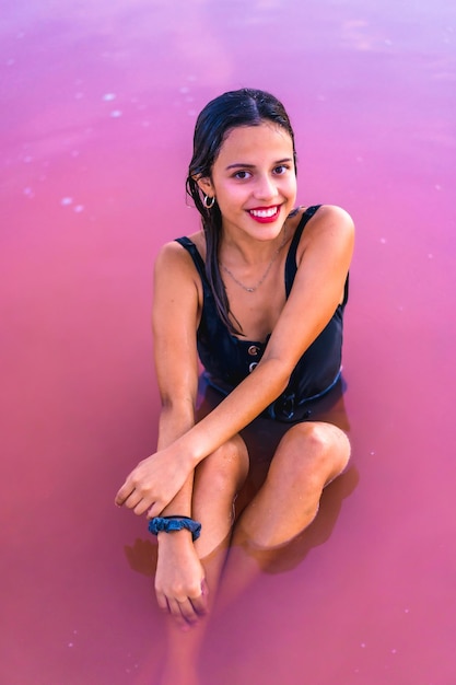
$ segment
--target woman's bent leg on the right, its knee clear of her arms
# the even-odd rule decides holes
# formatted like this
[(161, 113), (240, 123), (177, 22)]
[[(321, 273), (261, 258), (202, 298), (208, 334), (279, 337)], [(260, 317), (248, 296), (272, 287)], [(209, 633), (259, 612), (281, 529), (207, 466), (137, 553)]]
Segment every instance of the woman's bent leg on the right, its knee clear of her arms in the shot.
[(281, 439), (264, 485), (241, 514), (223, 576), (221, 607), (314, 520), (323, 489), (346, 467), (350, 443), (331, 423), (303, 422)]

